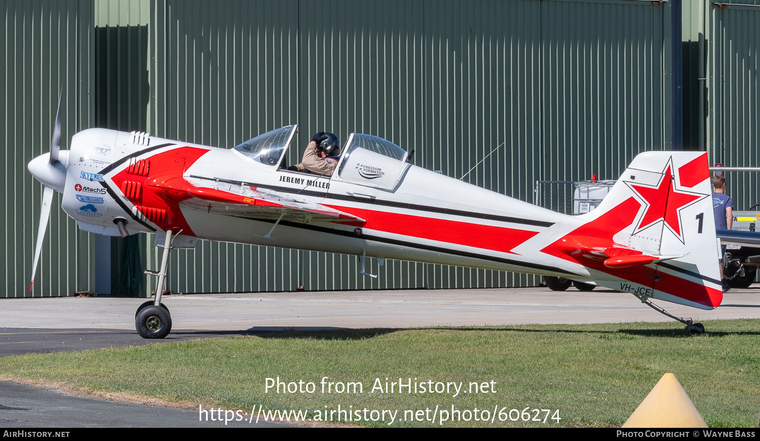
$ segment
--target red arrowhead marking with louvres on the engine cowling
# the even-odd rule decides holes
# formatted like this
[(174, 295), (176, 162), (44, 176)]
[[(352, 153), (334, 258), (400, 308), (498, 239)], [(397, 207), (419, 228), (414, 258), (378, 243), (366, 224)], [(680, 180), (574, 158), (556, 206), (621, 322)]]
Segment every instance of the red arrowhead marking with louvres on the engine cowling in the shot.
[[(178, 228), (182, 229), (182, 234), (195, 236), (182, 215), (179, 204), (173, 198), (167, 197), (164, 188), (166, 186), (179, 186), (185, 190), (189, 189), (191, 185), (182, 178), (182, 174), (207, 151), (207, 149), (195, 147), (181, 147), (163, 151), (144, 158), (144, 160), (150, 161), (147, 176), (142, 176), (144, 173), (136, 171), (129, 173), (130, 167), (126, 166), (116, 176), (113, 176), (112, 181), (119, 189), (122, 188), (122, 183), (125, 183), (125, 187), (139, 183), (141, 192), (130, 192), (129, 195), (125, 194), (125, 196), (140, 209), (142, 214), (162, 230)], [(167, 184), (169, 181), (172, 181), (172, 185)], [(182, 194), (186, 195), (186, 192), (182, 192)], [(150, 217), (153, 218), (150, 219)]]

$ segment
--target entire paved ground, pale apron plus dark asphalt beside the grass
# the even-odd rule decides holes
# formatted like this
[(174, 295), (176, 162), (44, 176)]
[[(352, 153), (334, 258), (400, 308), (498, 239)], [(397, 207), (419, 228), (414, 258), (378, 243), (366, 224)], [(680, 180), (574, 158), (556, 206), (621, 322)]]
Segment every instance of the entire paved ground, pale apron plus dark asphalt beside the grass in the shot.
[[(164, 297), (173, 330), (163, 340), (144, 340), (135, 332), (135, 309), (142, 302), (113, 297), (0, 299), (0, 356), (312, 329), (672, 321), (632, 295), (600, 289), (194, 294)], [(758, 319), (760, 284), (730, 290), (723, 304), (710, 311), (664, 302), (660, 306), (695, 322)], [(198, 411), (0, 382), (0, 424), (5, 427), (286, 426), (245, 420), (225, 426), (219, 421), (199, 421), (198, 416)]]

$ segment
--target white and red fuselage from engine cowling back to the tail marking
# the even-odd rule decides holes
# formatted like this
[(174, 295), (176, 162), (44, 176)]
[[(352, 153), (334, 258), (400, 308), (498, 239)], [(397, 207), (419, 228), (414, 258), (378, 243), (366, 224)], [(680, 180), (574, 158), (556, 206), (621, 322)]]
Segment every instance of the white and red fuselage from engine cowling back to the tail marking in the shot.
[[(347, 173), (342, 163), (343, 171), (338, 171), (339, 166), (333, 176), (316, 176), (261, 163), (234, 149), (101, 128), (74, 135), (69, 156), (63, 208), (93, 233), (117, 235), (114, 220), (125, 218), (130, 233), (179, 226), (182, 235), (201, 240), (565, 277), (588, 275), (582, 265), (560, 262), (537, 246), (580, 224), (574, 217), (400, 160), (387, 158), (383, 167), (362, 166), (397, 176), (378, 183)], [(284, 220), (264, 237), (273, 227), (272, 219), (185, 207), (166, 195), (164, 187), (172, 179), (233, 192), (239, 187), (270, 189), (354, 214), (366, 223)], [(151, 191), (159, 186), (159, 191)], [(158, 214), (151, 215), (150, 208)], [(361, 233), (356, 233), (357, 228)]]

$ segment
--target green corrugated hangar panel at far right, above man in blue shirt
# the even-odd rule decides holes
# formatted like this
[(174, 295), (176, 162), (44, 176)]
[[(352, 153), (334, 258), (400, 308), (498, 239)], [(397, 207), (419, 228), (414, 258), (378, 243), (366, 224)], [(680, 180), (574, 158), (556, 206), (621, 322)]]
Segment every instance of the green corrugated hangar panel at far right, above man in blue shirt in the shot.
[[(711, 160), (727, 167), (760, 166), (760, 2), (705, 5), (708, 26), (708, 122)], [(758, 173), (727, 172), (735, 210), (760, 203)]]

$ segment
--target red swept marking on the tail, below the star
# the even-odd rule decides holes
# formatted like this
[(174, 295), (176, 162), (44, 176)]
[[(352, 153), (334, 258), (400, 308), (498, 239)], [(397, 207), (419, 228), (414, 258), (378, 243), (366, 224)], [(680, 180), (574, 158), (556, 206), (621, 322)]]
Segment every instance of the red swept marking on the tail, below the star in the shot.
[[(639, 208), (641, 208), (641, 204), (635, 198), (628, 198), (600, 217), (562, 236), (559, 240), (542, 249), (541, 252), (555, 255), (559, 259), (577, 262), (587, 268), (602, 271), (616, 278), (651, 287), (701, 305), (711, 307), (720, 305), (720, 301), (723, 300), (723, 293), (720, 290), (672, 274), (665, 274), (662, 271), (657, 272), (655, 268), (644, 265), (619, 269), (609, 268), (604, 265), (603, 260), (593, 259), (581, 252), (581, 247), (606, 249), (611, 246), (619, 246), (613, 240), (613, 236), (633, 223)], [(655, 282), (655, 276), (659, 277), (657, 282)]]

